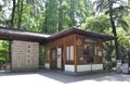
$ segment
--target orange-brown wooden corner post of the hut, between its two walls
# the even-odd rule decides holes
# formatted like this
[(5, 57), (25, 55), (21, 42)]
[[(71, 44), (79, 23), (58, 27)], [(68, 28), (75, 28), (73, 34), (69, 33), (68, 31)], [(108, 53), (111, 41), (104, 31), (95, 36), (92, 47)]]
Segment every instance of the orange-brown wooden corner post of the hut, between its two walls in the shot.
[(74, 35), (74, 66), (75, 66), (75, 73), (77, 73), (77, 43), (76, 43), (76, 35)]

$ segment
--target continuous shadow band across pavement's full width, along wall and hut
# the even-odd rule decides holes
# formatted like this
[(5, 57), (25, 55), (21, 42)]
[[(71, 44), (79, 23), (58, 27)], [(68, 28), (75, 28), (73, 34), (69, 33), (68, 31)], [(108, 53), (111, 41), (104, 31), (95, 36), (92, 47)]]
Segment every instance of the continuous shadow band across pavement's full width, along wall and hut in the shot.
[(81, 80), (95, 80), (95, 81), (128, 81), (130, 82), (130, 75), (116, 74), (115, 72), (96, 73), (88, 75), (67, 75), (61, 71), (38, 71), (38, 72), (17, 72), (17, 73), (0, 73), (1, 76), (16, 76), (16, 75), (34, 75), (38, 74), (50, 79), (54, 79), (64, 84), (76, 82)]

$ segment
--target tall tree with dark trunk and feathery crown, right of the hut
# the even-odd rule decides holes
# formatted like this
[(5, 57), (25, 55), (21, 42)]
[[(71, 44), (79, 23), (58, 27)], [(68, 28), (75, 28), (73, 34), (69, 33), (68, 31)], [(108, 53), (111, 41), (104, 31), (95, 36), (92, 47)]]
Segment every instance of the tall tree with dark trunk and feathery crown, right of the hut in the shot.
[[(112, 33), (115, 37), (117, 37), (116, 24), (121, 23), (121, 27), (126, 30), (128, 29), (128, 24), (122, 20), (123, 18), (122, 15), (129, 14), (128, 4), (126, 4), (125, 1), (122, 0), (96, 0), (94, 2), (94, 5), (96, 7), (95, 11), (98, 13), (103, 12), (105, 14), (108, 14), (110, 26), (112, 26)], [(118, 60), (120, 58), (120, 54), (119, 54), (120, 52), (119, 52), (117, 39), (115, 39), (115, 52), (116, 52), (116, 60)]]

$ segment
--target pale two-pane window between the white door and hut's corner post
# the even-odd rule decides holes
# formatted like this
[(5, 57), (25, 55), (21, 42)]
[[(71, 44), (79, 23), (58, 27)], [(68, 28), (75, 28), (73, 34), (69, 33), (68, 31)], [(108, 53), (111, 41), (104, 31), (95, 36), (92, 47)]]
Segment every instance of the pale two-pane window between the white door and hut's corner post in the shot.
[(74, 61), (74, 46), (66, 47), (66, 60)]

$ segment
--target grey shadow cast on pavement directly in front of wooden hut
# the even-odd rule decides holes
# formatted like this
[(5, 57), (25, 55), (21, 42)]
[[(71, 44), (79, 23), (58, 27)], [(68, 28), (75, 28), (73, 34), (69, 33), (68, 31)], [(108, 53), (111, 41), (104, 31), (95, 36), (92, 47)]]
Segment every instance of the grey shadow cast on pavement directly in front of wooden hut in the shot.
[(96, 73), (88, 75), (67, 75), (61, 72), (49, 71), (47, 73), (41, 73), (40, 75), (68, 84), (81, 80), (95, 80), (95, 81), (129, 81), (130, 75), (116, 74), (115, 72), (109, 73)]

